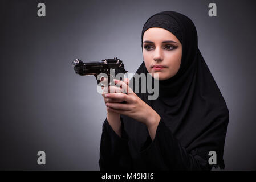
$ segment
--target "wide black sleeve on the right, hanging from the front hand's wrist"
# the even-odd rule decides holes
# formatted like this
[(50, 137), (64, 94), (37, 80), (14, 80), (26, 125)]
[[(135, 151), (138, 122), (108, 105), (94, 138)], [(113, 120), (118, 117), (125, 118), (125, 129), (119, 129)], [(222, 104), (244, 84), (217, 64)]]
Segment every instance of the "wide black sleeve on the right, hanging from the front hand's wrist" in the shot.
[(190, 154), (181, 146), (172, 131), (160, 119), (155, 139), (148, 136), (140, 150), (145, 164), (153, 170), (210, 170), (208, 161), (197, 155)]

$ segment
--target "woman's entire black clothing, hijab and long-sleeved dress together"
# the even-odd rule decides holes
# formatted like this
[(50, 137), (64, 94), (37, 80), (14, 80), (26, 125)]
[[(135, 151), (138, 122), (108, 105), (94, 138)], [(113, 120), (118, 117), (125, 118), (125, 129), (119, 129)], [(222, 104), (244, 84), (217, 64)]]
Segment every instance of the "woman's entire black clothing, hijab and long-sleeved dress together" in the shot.
[[(182, 44), (180, 69), (173, 77), (159, 80), (159, 97), (150, 100), (151, 93), (136, 93), (161, 117), (155, 139), (151, 140), (143, 123), (126, 115), (121, 115), (121, 138), (105, 120), (100, 143), (100, 169), (209, 170), (213, 166), (224, 169), (229, 110), (198, 49), (196, 27), (192, 20), (180, 13), (157, 13), (144, 24), (142, 48), (143, 34), (151, 27), (170, 31)], [(166, 64), (165, 60), (155, 61)], [(136, 73), (148, 74), (144, 61)], [(140, 80), (140, 86), (142, 81), (148, 83), (148, 77), (145, 79)], [(149, 79), (154, 85), (154, 78)], [(132, 85), (131, 79), (129, 86)], [(211, 152), (216, 153), (214, 163), (209, 160)]]

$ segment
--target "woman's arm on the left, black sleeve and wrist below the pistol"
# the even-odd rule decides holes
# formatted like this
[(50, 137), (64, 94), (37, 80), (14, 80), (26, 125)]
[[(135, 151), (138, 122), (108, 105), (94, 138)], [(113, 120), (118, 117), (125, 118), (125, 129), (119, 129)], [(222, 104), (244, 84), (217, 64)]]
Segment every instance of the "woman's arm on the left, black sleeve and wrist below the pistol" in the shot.
[[(119, 92), (116, 88), (115, 91)], [(105, 103), (121, 102), (120, 100), (111, 100), (105, 97), (104, 101)], [(100, 142), (100, 170), (129, 170), (132, 168), (128, 141), (128, 135), (124, 130), (123, 118), (120, 117), (120, 114), (107, 110), (107, 118), (103, 123)]]

